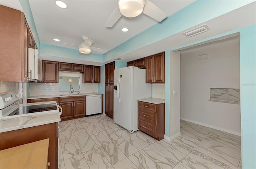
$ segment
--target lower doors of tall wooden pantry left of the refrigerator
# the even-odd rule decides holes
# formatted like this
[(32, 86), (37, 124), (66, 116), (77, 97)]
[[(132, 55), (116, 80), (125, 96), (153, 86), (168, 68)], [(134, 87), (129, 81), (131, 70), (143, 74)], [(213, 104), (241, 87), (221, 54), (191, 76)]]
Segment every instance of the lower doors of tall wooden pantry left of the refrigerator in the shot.
[(105, 114), (114, 117), (114, 84), (105, 83)]

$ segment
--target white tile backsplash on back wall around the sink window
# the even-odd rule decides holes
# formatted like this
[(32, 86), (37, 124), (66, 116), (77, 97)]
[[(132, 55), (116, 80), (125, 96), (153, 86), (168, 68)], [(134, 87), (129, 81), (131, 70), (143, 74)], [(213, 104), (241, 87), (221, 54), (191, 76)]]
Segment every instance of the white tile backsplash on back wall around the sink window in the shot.
[[(63, 73), (59, 72), (59, 76), (80, 77), (82, 81), (81, 73)], [(98, 92), (98, 83), (81, 83), (80, 93)], [(68, 94), (69, 92), (60, 92), (59, 83), (30, 83), (30, 96), (45, 96), (45, 95), (57, 95)], [(76, 93), (76, 92), (74, 92)]]

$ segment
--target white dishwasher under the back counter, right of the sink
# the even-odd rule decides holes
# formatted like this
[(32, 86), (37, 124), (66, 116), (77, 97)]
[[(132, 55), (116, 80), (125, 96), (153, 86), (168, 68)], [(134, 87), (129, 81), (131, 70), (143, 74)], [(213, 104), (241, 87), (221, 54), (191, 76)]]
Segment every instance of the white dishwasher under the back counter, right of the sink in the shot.
[(102, 112), (101, 97), (101, 94), (86, 96), (86, 116)]

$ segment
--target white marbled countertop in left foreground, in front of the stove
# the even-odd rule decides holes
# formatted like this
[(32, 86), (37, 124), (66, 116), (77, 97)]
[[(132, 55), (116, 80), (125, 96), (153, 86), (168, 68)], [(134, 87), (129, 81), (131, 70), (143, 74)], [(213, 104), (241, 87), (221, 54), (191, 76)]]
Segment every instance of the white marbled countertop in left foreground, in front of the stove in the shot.
[(0, 120), (0, 133), (22, 128), (29, 128), (60, 122), (60, 115), (58, 112), (46, 114), (34, 114), (28, 116), (20, 116), (16, 118), (8, 118)]

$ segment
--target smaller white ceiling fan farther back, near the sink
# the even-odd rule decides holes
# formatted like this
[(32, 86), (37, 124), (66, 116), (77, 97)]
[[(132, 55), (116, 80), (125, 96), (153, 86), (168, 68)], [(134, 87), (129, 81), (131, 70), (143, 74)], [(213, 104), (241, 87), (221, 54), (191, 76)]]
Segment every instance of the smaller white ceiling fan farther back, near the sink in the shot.
[(93, 43), (93, 40), (92, 39), (89, 39), (87, 36), (82, 36), (82, 39), (84, 40), (83, 43), (81, 43), (80, 45), (75, 45), (75, 44), (70, 44), (70, 43), (60, 43), (60, 44), (65, 44), (65, 45), (75, 45), (75, 46), (79, 46), (78, 49), (79, 49), (79, 53), (82, 53), (82, 54), (90, 54), (91, 51), (96, 51), (96, 52), (99, 52), (99, 53), (107, 53), (106, 50), (104, 49), (100, 49), (100, 48), (97, 48), (97, 47), (92, 47), (92, 43)]

